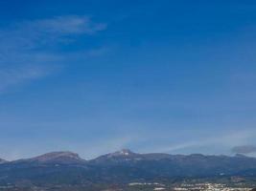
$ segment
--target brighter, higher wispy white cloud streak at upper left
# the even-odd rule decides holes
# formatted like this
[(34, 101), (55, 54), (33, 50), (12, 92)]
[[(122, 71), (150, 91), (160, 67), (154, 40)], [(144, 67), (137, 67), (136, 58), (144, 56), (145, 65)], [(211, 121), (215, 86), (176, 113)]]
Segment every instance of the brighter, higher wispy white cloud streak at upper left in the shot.
[(95, 23), (89, 17), (77, 15), (20, 21), (0, 29), (0, 49), (28, 50), (59, 41), (68, 42), (70, 36), (92, 35), (106, 27), (105, 23)]

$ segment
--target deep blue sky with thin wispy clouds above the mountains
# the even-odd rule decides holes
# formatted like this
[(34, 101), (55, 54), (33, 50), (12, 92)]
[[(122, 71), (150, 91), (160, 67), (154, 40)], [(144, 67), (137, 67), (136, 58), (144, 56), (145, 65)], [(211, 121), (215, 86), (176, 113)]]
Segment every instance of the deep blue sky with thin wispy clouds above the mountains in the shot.
[(0, 158), (256, 152), (253, 0), (0, 1)]

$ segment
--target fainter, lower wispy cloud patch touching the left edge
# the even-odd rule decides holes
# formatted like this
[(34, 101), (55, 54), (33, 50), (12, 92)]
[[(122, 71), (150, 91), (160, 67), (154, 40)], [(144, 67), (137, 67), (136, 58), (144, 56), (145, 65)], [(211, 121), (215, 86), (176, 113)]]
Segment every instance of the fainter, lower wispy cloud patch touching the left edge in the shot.
[(56, 71), (62, 59), (50, 53), (11, 52), (0, 59), (0, 94)]

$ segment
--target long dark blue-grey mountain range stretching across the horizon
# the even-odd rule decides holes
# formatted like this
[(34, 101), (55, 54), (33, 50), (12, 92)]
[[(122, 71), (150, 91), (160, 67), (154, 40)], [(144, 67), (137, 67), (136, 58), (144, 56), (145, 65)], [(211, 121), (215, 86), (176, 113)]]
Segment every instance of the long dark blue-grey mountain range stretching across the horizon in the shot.
[(81, 159), (72, 152), (52, 152), (32, 159), (0, 159), (0, 185), (120, 183), (183, 178), (255, 177), (256, 158), (138, 154), (128, 149)]

